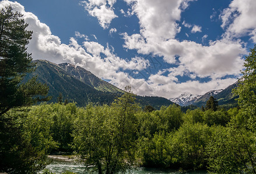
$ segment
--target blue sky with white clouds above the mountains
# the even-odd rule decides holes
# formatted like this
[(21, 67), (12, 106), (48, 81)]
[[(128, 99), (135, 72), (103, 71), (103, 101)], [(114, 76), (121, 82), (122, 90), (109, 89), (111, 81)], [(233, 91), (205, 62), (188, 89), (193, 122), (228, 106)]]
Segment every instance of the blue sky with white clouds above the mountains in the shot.
[(34, 60), (72, 63), (137, 95), (225, 89), (256, 44), (255, 0), (0, 1), (33, 31)]

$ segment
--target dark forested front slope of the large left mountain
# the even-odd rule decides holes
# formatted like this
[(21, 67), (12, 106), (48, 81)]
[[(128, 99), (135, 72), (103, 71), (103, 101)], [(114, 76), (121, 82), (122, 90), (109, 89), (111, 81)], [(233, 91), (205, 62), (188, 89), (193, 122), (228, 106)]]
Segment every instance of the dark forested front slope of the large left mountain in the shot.
[(27, 74), (24, 80), (37, 75), (38, 81), (49, 87), (48, 95), (52, 96), (50, 102), (57, 102), (60, 93), (64, 99), (74, 101), (78, 103), (78, 106), (85, 106), (89, 102), (107, 104), (111, 103), (115, 97), (113, 93), (100, 92), (79, 81), (57, 64), (46, 60), (37, 60), (36, 63), (36, 71)]

